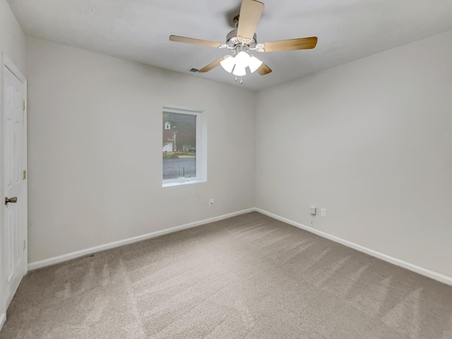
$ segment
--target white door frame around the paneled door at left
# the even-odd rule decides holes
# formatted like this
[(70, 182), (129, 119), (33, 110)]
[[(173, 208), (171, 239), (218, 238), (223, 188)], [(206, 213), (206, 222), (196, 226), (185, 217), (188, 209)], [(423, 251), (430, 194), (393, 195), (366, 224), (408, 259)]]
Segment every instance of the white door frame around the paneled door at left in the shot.
[[(9, 59), (6, 54), (0, 53), (0, 203), (3, 201), (3, 197), (5, 196), (5, 188), (4, 188), (4, 71), (8, 69), (11, 73), (18, 78), (20, 83), (23, 85), (23, 100), (27, 101), (27, 79), (23, 74), (19, 71), (16, 65), (13, 64), (13, 61)], [(24, 214), (21, 218), (23, 218), (22, 229), (20, 230), (21, 239), (25, 239), (25, 249), (23, 253), (23, 268), (21, 270), (22, 276), (28, 272), (28, 168), (27, 168), (27, 107), (23, 111), (23, 145), (24, 154), (21, 155), (21, 161), (23, 164), (23, 170), (27, 171), (27, 179), (25, 179), (25, 184), (23, 185), (23, 210)], [(0, 254), (1, 257), (4, 256), (4, 248), (3, 237), (4, 237), (4, 208), (0, 209)], [(9, 302), (11, 302), (11, 296), (6, 295), (5, 287), (5, 277), (4, 277), (4, 263), (0, 261), (0, 330), (6, 321), (6, 309), (8, 308)]]

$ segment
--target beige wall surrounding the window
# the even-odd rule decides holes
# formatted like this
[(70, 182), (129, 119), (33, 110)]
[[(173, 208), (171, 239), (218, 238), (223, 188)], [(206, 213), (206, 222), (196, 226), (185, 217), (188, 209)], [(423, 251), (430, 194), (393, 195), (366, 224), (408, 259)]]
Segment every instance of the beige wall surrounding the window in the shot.
[[(254, 207), (254, 92), (35, 38), (27, 69), (30, 263)], [(208, 182), (162, 188), (164, 105), (203, 110)]]

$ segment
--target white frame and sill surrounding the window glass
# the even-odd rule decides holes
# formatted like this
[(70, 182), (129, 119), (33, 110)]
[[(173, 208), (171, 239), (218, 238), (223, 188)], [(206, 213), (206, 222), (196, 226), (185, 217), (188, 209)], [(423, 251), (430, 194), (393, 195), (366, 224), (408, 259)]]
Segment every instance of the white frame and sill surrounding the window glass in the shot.
[[(194, 109), (182, 109), (174, 107), (163, 107), (164, 112), (177, 114), (191, 114), (196, 116), (196, 177), (184, 179), (163, 179), (163, 160), (160, 162), (162, 168), (162, 187), (179, 186), (186, 184), (197, 184), (207, 182), (207, 134), (206, 120), (202, 111)], [(160, 125), (161, 126), (161, 125)], [(163, 133), (163, 129), (161, 130)], [(160, 138), (162, 140), (162, 138)]]

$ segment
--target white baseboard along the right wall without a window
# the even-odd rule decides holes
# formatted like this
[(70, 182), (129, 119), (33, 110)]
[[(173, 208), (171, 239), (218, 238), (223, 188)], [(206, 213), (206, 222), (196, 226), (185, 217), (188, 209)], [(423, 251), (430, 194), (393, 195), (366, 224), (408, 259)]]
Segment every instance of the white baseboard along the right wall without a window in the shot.
[(365, 254), (369, 254), (369, 256), (374, 256), (375, 258), (379, 258), (383, 261), (387, 261), (388, 263), (393, 263), (396, 266), (400, 266), (403, 268), (406, 268), (408, 270), (412, 270), (415, 273), (418, 273), (420, 275), (424, 275), (428, 278), (432, 278), (434, 280), (438, 280), (441, 283), (447, 284), (447, 285), (451, 285), (452, 286), (452, 278), (448, 277), (447, 275), (442, 275), (440, 273), (436, 273), (432, 270), (427, 270), (425, 268), (422, 268), (420, 266), (416, 266), (413, 265), (412, 263), (408, 263), (406, 261), (400, 260), (398, 258), (393, 258), (392, 256), (387, 256), (386, 254), (382, 254), (380, 252), (374, 251), (372, 249), (368, 249), (367, 247), (355, 244), (354, 242), (349, 242), (345, 239), (339, 238), (339, 237), (335, 237), (334, 235), (328, 234), (326, 232), (322, 232), (319, 230), (316, 230), (315, 228), (312, 227), (308, 227), (306, 225), (302, 225), (299, 222), (295, 222), (283, 217), (280, 217), (279, 215), (275, 215), (273, 213), (267, 212), (266, 210), (261, 210), (260, 208), (254, 208), (254, 210), (256, 210), (256, 212), (258, 213), (262, 213), (265, 215), (268, 215), (270, 218), (276, 219), (276, 220), (280, 220), (283, 221), (289, 225), (301, 228), (302, 230), (314, 233), (319, 235), (320, 237), (326, 238), (326, 239), (330, 239), (333, 242), (338, 242), (339, 244), (343, 244), (347, 247), (350, 247), (352, 249), (356, 249), (357, 251), (363, 252)]

